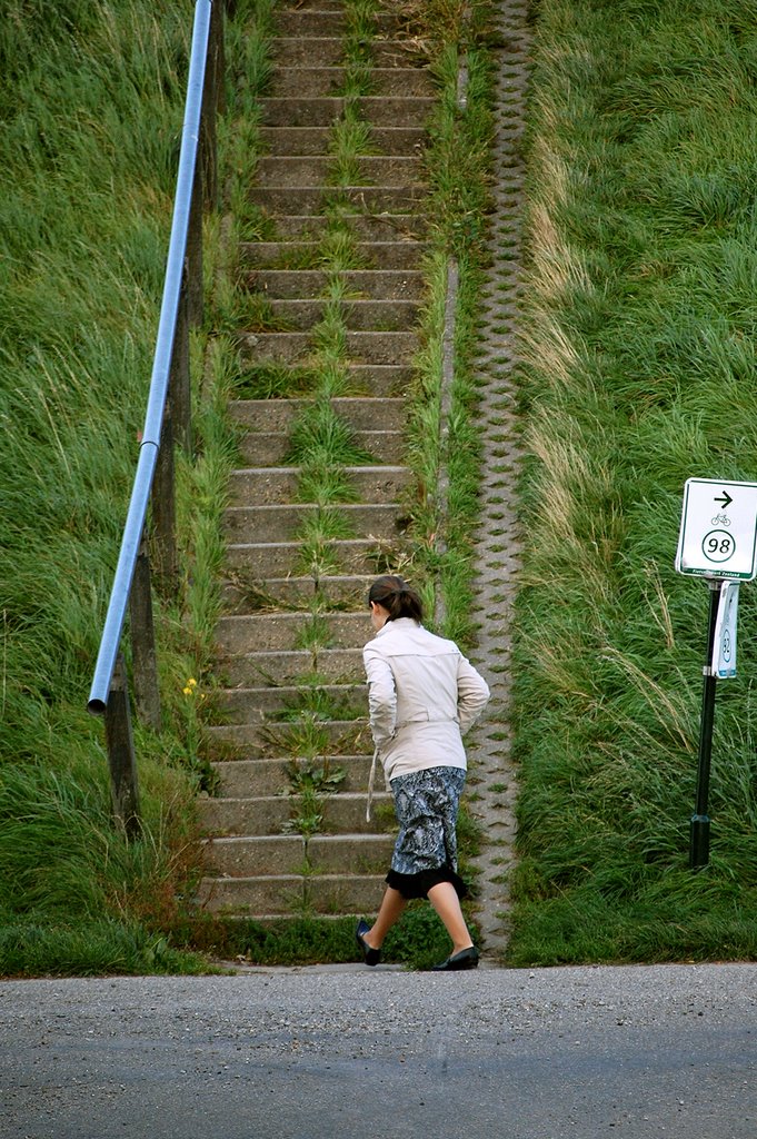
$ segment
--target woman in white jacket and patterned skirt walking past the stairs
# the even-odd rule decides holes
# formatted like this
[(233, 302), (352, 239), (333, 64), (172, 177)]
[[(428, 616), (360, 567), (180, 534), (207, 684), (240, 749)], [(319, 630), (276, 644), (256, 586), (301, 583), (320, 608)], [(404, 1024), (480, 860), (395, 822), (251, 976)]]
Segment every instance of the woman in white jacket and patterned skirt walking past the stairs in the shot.
[[(373, 926), (359, 921), (367, 965), (411, 898), (428, 898), (452, 939), (441, 969), (474, 969), (478, 951), (460, 899), (455, 825), (466, 781), (462, 734), (488, 700), (488, 687), (458, 646), (423, 629), (420, 597), (402, 577), (379, 577), (368, 603), (376, 637), (363, 649), (376, 755), (392, 787), (400, 834)], [(371, 785), (372, 785), (371, 772)], [(370, 794), (370, 793), (369, 793)]]

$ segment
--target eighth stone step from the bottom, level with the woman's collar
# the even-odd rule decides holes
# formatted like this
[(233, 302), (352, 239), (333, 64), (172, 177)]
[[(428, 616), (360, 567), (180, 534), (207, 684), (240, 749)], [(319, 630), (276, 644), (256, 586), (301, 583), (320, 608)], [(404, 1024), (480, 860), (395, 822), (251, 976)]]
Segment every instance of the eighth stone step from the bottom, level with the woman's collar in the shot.
[[(308, 613), (250, 613), (219, 620), (215, 639), (222, 656), (302, 648), (314, 628)], [(368, 607), (360, 613), (321, 613), (315, 618), (323, 631), (322, 648), (361, 648), (371, 639)]]

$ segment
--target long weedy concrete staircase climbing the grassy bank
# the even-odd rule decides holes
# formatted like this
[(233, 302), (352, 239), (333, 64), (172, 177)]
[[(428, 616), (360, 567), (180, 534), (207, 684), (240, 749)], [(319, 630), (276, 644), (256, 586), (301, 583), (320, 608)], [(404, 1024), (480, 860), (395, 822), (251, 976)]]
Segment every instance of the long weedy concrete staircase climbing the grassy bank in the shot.
[[(264, 318), (238, 339), (253, 380), (273, 370), (295, 394), (231, 407), (240, 465), (216, 636), (224, 688), (208, 729), (220, 794), (201, 801), (209, 837), (199, 892), (209, 911), (256, 918), (372, 912), (382, 893), (393, 818), (380, 793), (365, 822), (372, 747), (361, 650), (371, 636), (367, 588), (398, 564), (412, 494), (403, 394), (419, 346), (433, 106), (422, 60), (390, 17), (361, 40), (370, 62), (357, 68), (362, 92), (348, 6), (282, 3), (275, 34), (266, 154), (249, 190), (265, 240), (241, 251), (244, 287)], [(370, 151), (348, 156), (349, 178), (334, 145), (347, 121), (362, 124)], [(352, 459), (327, 464), (313, 482), (297, 437), (323, 415)], [(324, 492), (323, 478), (342, 491)]]

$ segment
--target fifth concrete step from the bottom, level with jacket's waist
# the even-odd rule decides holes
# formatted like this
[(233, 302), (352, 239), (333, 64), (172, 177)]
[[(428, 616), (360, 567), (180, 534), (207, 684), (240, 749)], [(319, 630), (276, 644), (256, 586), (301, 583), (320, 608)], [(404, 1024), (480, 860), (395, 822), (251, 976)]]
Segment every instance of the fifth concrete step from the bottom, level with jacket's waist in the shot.
[[(372, 755), (373, 743), (368, 721), (329, 720), (314, 727), (319, 754)], [(207, 754), (211, 760), (262, 760), (290, 752), (298, 754), (298, 739), (291, 726), (236, 723), (206, 728)]]

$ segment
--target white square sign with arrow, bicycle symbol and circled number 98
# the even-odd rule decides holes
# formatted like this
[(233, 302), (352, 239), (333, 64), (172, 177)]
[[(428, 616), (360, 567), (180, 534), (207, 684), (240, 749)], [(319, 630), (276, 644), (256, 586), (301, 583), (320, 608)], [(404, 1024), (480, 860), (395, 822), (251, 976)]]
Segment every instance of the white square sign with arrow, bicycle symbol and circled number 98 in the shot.
[(757, 574), (757, 483), (689, 478), (675, 567), (698, 577), (751, 581)]

